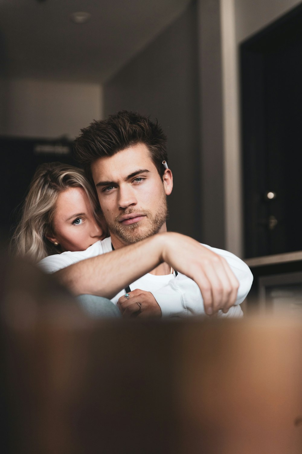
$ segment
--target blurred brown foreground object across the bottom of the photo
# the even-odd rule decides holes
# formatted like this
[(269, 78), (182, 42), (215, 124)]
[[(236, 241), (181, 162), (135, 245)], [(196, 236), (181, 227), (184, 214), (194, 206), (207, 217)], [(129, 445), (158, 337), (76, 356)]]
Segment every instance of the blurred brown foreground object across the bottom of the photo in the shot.
[(1, 270), (4, 452), (301, 453), (302, 323), (93, 320)]

